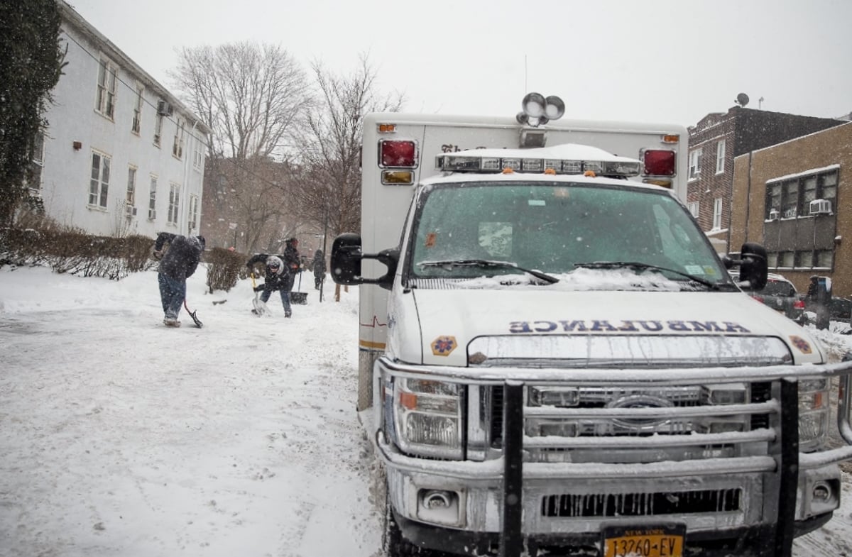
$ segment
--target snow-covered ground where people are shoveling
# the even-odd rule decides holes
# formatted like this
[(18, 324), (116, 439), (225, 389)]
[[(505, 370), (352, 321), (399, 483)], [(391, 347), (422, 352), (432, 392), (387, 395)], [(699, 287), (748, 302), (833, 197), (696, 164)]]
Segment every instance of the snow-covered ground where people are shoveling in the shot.
[[(162, 324), (156, 273), (0, 269), (0, 556), (378, 557), (358, 291), (285, 319), (249, 281)], [(226, 301), (214, 304), (214, 301)], [(817, 331), (835, 353), (852, 337)], [(852, 492), (795, 554), (852, 552)]]

